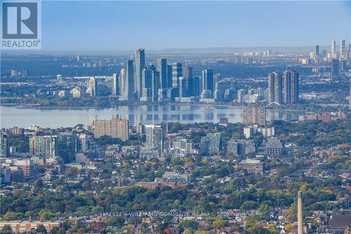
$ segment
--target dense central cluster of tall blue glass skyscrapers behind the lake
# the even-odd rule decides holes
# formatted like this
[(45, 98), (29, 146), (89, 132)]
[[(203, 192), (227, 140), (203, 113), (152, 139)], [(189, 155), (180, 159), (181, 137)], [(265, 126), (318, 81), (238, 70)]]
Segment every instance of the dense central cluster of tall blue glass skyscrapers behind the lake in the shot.
[(201, 77), (194, 76), (192, 67), (183, 70), (182, 63), (168, 64), (166, 58), (159, 58), (157, 65), (145, 65), (143, 48), (135, 51), (135, 60), (127, 60), (112, 79), (112, 95), (119, 96), (119, 100), (144, 102), (200, 96), (213, 98), (216, 81), (220, 80), (213, 70), (202, 71)]

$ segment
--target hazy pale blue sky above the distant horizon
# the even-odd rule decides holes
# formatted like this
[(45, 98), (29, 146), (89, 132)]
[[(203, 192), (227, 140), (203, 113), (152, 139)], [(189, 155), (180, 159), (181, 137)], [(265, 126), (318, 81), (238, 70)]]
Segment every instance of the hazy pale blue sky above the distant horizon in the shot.
[(43, 1), (42, 48), (125, 51), (329, 45), (351, 1)]

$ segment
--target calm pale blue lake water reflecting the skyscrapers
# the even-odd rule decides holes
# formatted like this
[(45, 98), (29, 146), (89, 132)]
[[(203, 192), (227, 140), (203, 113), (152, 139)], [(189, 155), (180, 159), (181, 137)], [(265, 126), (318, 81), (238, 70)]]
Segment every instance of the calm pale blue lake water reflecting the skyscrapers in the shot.
[[(241, 108), (213, 105), (135, 105), (118, 108), (98, 109), (40, 109), (1, 106), (1, 128), (19, 126), (27, 128), (36, 124), (41, 127), (58, 128), (76, 124), (91, 124), (94, 119), (120, 117), (129, 119), (130, 124), (158, 124), (160, 122), (242, 122)], [(296, 119), (295, 115), (269, 110), (267, 119)]]

